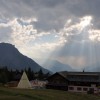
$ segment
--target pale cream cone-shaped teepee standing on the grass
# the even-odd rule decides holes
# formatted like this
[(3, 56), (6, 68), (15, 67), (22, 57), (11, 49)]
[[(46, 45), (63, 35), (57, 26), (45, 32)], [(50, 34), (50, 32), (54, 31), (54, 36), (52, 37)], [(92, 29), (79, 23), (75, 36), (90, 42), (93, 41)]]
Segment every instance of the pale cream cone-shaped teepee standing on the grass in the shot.
[(25, 72), (23, 72), (17, 87), (22, 89), (28, 89), (32, 87)]

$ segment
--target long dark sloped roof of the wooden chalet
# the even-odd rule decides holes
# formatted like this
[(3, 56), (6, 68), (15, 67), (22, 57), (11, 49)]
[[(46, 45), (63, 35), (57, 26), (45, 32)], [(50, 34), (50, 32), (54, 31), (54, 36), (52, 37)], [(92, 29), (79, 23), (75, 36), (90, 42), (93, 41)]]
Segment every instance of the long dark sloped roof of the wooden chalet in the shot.
[(58, 72), (69, 81), (100, 82), (100, 72)]

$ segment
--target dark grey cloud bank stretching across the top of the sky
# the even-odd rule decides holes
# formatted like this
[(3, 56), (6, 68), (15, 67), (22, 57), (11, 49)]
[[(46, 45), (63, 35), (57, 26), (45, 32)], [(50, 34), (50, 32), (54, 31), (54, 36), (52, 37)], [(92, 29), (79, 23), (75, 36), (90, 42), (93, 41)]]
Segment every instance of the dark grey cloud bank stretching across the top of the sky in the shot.
[(100, 0), (1, 0), (0, 18), (36, 17), (35, 28), (49, 31), (61, 29), (69, 18), (94, 17), (100, 27)]

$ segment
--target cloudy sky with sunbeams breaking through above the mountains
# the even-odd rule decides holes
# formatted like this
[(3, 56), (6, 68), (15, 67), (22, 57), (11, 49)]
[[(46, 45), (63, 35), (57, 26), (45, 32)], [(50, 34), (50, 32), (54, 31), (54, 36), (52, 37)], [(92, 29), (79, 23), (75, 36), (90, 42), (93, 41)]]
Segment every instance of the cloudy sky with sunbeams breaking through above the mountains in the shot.
[(100, 59), (100, 0), (0, 0), (0, 42), (43, 64), (73, 68)]

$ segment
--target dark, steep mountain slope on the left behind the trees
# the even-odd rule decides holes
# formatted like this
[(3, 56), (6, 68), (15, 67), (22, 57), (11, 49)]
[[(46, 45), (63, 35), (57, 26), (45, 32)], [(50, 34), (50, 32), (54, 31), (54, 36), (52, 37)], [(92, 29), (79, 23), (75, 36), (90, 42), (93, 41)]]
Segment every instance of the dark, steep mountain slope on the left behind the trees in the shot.
[(0, 43), (0, 66), (7, 66), (9, 69), (18, 70), (30, 67), (34, 72), (40, 69), (42, 69), (44, 73), (48, 72), (47, 69), (21, 54), (14, 45), (9, 43)]

